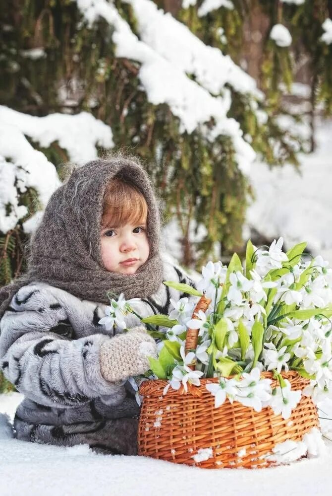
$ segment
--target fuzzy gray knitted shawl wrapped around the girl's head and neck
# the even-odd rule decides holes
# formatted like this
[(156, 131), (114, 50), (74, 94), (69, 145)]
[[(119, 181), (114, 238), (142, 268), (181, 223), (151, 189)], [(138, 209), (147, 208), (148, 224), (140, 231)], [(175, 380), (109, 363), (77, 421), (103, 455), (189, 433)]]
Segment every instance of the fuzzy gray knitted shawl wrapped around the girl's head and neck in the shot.
[[(114, 176), (129, 181), (144, 195), (149, 213), (150, 255), (135, 274), (108, 272), (100, 249), (101, 218), (106, 184)], [(28, 270), (0, 289), (0, 318), (15, 292), (28, 283), (42, 282), (91, 301), (107, 304), (107, 291), (125, 298), (144, 298), (163, 281), (159, 257), (160, 216), (147, 173), (137, 159), (98, 159), (73, 170), (52, 195), (30, 241)]]

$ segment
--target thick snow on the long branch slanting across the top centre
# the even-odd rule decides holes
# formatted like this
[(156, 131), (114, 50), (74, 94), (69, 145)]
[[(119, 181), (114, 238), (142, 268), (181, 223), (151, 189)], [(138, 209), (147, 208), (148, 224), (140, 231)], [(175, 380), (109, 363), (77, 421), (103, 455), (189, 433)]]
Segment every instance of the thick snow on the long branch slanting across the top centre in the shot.
[[(230, 81), (235, 85), (236, 79), (238, 91), (241, 88), (242, 92), (252, 92), (258, 98), (260, 93), (253, 79), (239, 68), (236, 69), (232, 61), (223, 57), (219, 50), (207, 47), (180, 22), (158, 10), (152, 1), (129, 0), (138, 19), (142, 40), (130, 30), (114, 5), (106, 0), (76, 1), (89, 25), (99, 17), (112, 25), (112, 39), (116, 45), (117, 57), (135, 60), (141, 64), (138, 76), (148, 100), (154, 105), (166, 103), (172, 114), (179, 118), (181, 133), (190, 134), (199, 129), (211, 142), (219, 136), (229, 136), (233, 141), (239, 168), (247, 173), (250, 163), (255, 158), (255, 152), (243, 140), (238, 122), (227, 117), (231, 96), (229, 89), (224, 88), (224, 85), (226, 82), (230, 84)], [(170, 38), (175, 40), (175, 45), (170, 43)], [(168, 52), (164, 48), (167, 46)], [(182, 53), (182, 61), (180, 57), (176, 58), (176, 50)], [(194, 57), (196, 53), (197, 56)], [(222, 60), (223, 63), (217, 64), (217, 53), (221, 56), (219, 61)], [(208, 54), (209, 62), (203, 66)], [(193, 62), (190, 65), (191, 59)], [(210, 65), (218, 67), (219, 83), (215, 83), (215, 86), (213, 79), (218, 77), (217, 73), (208, 73)], [(226, 77), (221, 74), (221, 69), (228, 74)], [(190, 79), (187, 72), (193, 73), (206, 87)], [(247, 82), (240, 83), (240, 79)], [(210, 93), (212, 90), (219, 93), (222, 88), (222, 96), (213, 96)], [(208, 128), (206, 123), (210, 122), (211, 118), (214, 119), (215, 125)]]

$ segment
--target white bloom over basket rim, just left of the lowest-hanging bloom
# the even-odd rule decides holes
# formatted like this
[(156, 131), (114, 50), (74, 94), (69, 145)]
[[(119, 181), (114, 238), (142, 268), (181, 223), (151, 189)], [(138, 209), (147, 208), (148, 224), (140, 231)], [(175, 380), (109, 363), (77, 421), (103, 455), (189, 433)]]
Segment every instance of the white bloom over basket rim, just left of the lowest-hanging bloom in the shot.
[(258, 367), (250, 373), (243, 372), (242, 380), (237, 386), (236, 401), (247, 407), (260, 412), (262, 407), (271, 397), (271, 379), (261, 379), (261, 372)]

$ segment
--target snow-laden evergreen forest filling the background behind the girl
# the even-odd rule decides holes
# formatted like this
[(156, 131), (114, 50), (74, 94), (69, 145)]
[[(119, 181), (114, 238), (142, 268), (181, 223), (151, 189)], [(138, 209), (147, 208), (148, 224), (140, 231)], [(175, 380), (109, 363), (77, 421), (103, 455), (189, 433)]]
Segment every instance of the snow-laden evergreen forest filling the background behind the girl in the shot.
[[(279, 235), (246, 212), (269, 194), (255, 178), (300, 174), (331, 116), (331, 17), (330, 0), (3, 3), (0, 285), (24, 272), (63, 164), (110, 149), (144, 161), (185, 267)], [(331, 248), (324, 236), (308, 249)]]

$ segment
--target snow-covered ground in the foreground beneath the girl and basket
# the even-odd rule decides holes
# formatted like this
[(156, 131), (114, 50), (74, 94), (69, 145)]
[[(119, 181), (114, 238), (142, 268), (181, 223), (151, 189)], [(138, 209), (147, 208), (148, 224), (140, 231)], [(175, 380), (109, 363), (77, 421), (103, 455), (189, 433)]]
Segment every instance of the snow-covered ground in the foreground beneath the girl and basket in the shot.
[[(331, 495), (328, 440), (324, 457), (255, 470), (207, 470), (138, 456), (97, 455), (87, 445), (59, 448), (13, 439), (1, 413), (12, 419), (21, 398), (19, 393), (0, 395), (1, 496)], [(332, 396), (320, 408), (320, 416), (332, 418)], [(322, 430), (332, 438), (331, 421), (322, 421)]]

